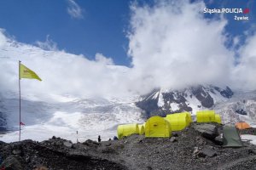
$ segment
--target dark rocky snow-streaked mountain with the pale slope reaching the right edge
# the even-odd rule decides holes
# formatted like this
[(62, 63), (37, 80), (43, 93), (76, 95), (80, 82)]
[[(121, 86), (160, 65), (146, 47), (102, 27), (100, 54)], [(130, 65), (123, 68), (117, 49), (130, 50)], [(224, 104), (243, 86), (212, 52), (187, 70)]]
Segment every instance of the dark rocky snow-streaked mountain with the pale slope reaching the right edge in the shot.
[(137, 107), (143, 110), (143, 117), (166, 116), (166, 114), (189, 111), (215, 110), (223, 122), (256, 122), (256, 93), (236, 92), (229, 87), (219, 88), (212, 85), (196, 86), (181, 90), (155, 89), (143, 96)]

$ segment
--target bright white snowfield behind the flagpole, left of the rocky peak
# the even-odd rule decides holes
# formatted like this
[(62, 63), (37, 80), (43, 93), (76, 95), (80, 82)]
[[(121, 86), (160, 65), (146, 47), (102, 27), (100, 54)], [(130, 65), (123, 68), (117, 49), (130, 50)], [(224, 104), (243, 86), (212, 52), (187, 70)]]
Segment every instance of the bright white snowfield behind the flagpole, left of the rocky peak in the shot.
[[(133, 100), (73, 99), (64, 102), (38, 102), (22, 99), (21, 122), (26, 126), (22, 126), (21, 139), (41, 141), (54, 135), (73, 142), (76, 139), (96, 139), (97, 135), (105, 140), (113, 138), (118, 124), (143, 122), (141, 110)], [(8, 133), (0, 133), (0, 140), (16, 141), (19, 130), (19, 100), (1, 101), (0, 112), (4, 118), (0, 119), (0, 123)]]

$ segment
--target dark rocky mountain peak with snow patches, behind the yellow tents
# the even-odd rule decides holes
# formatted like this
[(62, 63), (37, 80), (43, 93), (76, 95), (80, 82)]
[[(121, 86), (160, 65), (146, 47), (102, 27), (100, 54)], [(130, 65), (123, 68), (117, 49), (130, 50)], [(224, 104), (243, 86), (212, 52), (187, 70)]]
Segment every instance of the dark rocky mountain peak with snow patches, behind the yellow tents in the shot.
[(219, 88), (213, 85), (198, 85), (179, 90), (154, 89), (144, 95), (137, 106), (145, 112), (144, 116), (166, 116), (174, 112), (189, 111), (195, 114), (201, 109), (211, 109), (218, 102), (233, 96), (229, 87)]

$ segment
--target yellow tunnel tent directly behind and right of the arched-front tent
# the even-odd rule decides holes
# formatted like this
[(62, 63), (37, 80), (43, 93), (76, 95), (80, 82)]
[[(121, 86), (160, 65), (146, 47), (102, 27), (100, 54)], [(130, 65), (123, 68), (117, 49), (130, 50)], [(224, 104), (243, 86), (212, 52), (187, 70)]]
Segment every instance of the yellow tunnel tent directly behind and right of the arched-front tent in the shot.
[(189, 116), (187, 114), (181, 114), (175, 113), (166, 115), (166, 121), (170, 122), (172, 131), (181, 131), (185, 127), (189, 126)]

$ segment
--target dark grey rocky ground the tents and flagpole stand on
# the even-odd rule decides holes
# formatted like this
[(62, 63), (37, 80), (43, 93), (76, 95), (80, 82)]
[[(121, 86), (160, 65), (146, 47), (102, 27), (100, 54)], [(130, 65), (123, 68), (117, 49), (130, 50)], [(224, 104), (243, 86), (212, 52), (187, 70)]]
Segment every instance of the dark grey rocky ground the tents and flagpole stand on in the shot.
[[(31, 170), (39, 166), (49, 170), (256, 169), (254, 145), (244, 142), (245, 146), (241, 148), (224, 148), (218, 137), (221, 127), (216, 124), (208, 127), (203, 132), (204, 127), (193, 123), (182, 132), (173, 133), (170, 139), (132, 135), (100, 144), (91, 140), (72, 144), (55, 137), (40, 143), (32, 140), (1, 142), (0, 155), (2, 165), (15, 170)], [(241, 131), (255, 132), (255, 129)]]

